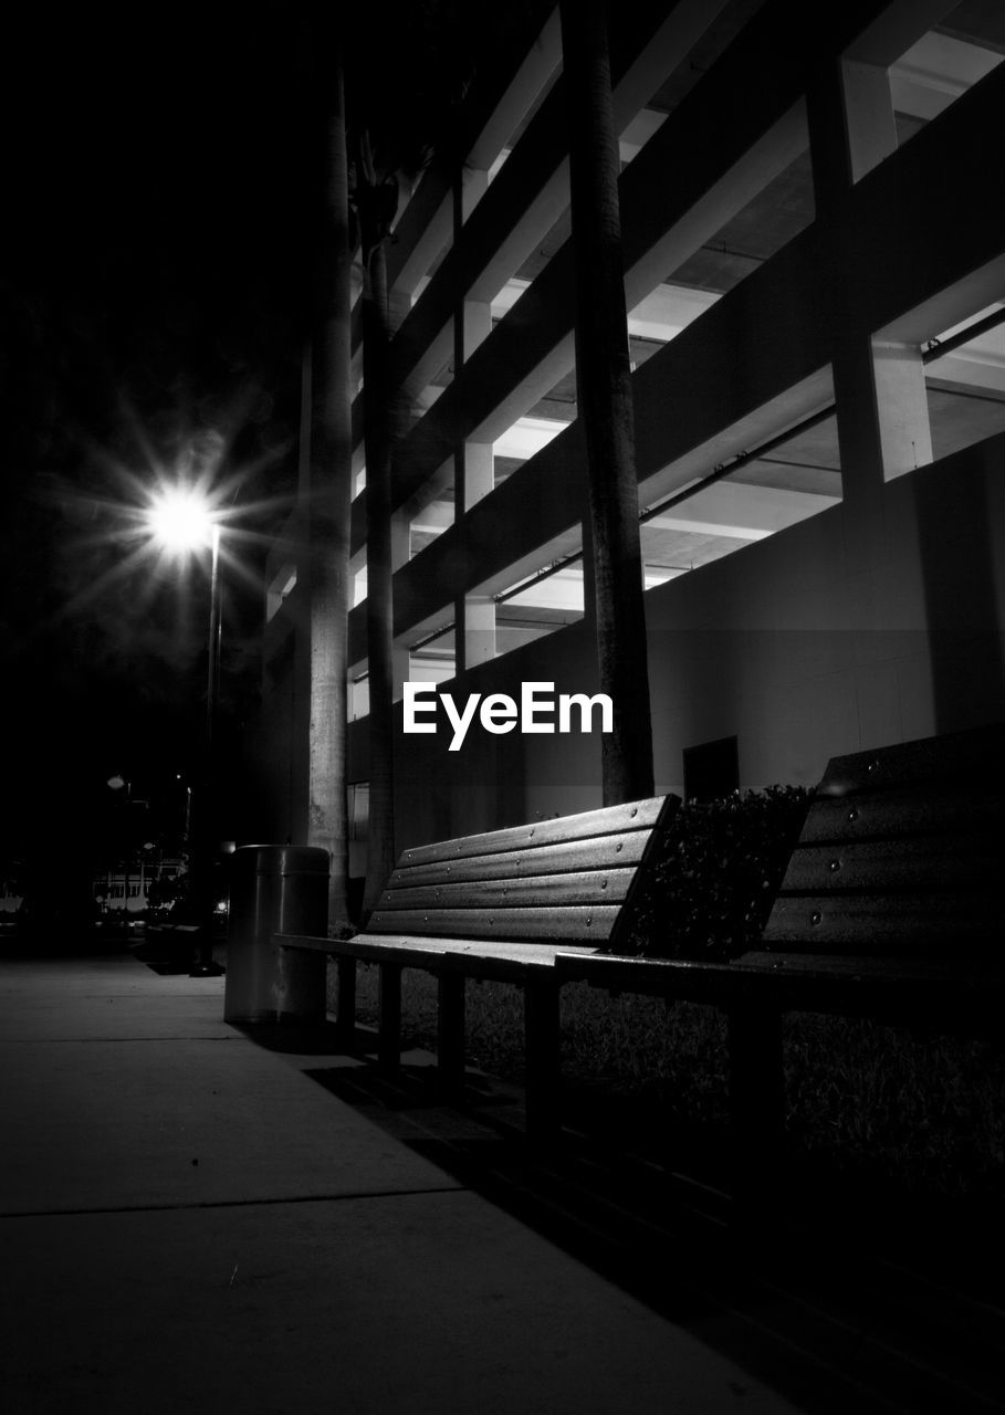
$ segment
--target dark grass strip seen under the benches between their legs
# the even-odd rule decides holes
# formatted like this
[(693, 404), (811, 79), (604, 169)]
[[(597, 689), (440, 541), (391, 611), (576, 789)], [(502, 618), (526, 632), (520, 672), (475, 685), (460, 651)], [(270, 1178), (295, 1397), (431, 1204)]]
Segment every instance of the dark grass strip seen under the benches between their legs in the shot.
[[(334, 969), (330, 1006), (334, 1009)], [(375, 965), (358, 965), (357, 1016), (378, 1017)], [(436, 979), (405, 969), (406, 1047), (436, 1050)], [(467, 1060), (524, 1082), (518, 988), (467, 988)], [(820, 1160), (916, 1197), (1005, 1199), (1005, 1051), (957, 1037), (919, 1039), (873, 1023), (791, 1015), (784, 1027), (786, 1128), (794, 1157)], [(715, 1131), (728, 1118), (722, 1013), (586, 983), (562, 989), (562, 1074), (597, 1107)]]

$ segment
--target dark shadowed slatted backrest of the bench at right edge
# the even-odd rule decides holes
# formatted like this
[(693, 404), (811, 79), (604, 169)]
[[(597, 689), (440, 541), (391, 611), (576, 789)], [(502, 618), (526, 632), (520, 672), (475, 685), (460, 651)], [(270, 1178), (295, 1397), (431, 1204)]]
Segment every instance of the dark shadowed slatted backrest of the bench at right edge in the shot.
[(1005, 726), (835, 757), (742, 961), (1001, 965), (1004, 867)]

